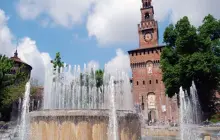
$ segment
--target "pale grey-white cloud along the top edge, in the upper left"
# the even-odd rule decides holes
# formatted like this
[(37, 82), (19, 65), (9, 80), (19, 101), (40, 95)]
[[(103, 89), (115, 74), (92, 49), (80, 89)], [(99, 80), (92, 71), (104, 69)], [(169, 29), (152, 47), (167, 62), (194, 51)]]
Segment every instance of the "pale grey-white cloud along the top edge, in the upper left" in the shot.
[(81, 23), (95, 0), (20, 0), (17, 11), (23, 19), (48, 15), (52, 22), (64, 27)]

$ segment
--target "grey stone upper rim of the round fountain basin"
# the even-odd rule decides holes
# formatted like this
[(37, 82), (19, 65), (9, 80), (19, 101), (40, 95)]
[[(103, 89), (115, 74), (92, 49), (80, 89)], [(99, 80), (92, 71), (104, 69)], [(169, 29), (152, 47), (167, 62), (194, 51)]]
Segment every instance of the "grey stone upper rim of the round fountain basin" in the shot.
[[(30, 112), (29, 115), (31, 118), (33, 117), (77, 117), (77, 116), (84, 116), (84, 117), (108, 117), (110, 110), (108, 109), (83, 109), (83, 110), (40, 110), (40, 111), (33, 111)], [(134, 111), (131, 110), (117, 110), (117, 116), (124, 117), (124, 116), (136, 116)]]

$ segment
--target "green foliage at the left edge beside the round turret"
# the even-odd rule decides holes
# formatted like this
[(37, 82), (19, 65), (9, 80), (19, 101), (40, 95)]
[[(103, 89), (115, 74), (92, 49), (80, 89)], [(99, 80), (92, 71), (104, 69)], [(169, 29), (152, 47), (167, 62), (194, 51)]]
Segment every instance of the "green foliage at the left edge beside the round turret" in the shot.
[(12, 72), (14, 62), (6, 56), (0, 55), (0, 109), (9, 107), (14, 101), (22, 97), (27, 73), (22, 72), (21, 66), (15, 73)]

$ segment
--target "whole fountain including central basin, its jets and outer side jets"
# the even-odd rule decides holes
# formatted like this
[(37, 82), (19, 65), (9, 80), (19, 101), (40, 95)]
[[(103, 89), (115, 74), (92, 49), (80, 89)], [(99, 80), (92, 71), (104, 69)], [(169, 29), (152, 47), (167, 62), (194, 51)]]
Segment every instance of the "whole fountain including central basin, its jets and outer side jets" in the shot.
[[(190, 93), (180, 88), (180, 127), (141, 130), (132, 107), (130, 80), (124, 72), (105, 69), (103, 84), (96, 86), (93, 69), (70, 66), (45, 77), (42, 110), (28, 112), (23, 102), (20, 140), (203, 140), (201, 111), (195, 84)], [(25, 100), (28, 101), (29, 83)], [(24, 104), (25, 103), (25, 104)], [(25, 127), (24, 127), (25, 126)], [(27, 127), (29, 129), (27, 129)], [(142, 128), (143, 129), (143, 128)], [(141, 134), (142, 133), (142, 134)], [(179, 133), (179, 135), (177, 135)], [(142, 135), (142, 137), (141, 137)], [(209, 137), (209, 136), (207, 136)]]

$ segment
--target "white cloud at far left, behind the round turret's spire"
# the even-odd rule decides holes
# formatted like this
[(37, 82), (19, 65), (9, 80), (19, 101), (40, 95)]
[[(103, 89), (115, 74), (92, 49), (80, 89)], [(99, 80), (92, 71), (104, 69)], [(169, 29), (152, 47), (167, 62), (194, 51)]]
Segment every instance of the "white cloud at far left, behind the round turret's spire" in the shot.
[[(13, 43), (14, 35), (7, 26), (8, 17), (5, 12), (0, 9), (0, 54), (11, 57), (16, 49)], [(29, 37), (19, 40), (18, 44), (19, 58), (33, 67), (32, 77), (44, 81), (44, 71), (48, 63), (50, 63), (50, 55), (46, 52), (40, 52), (36, 42)]]

